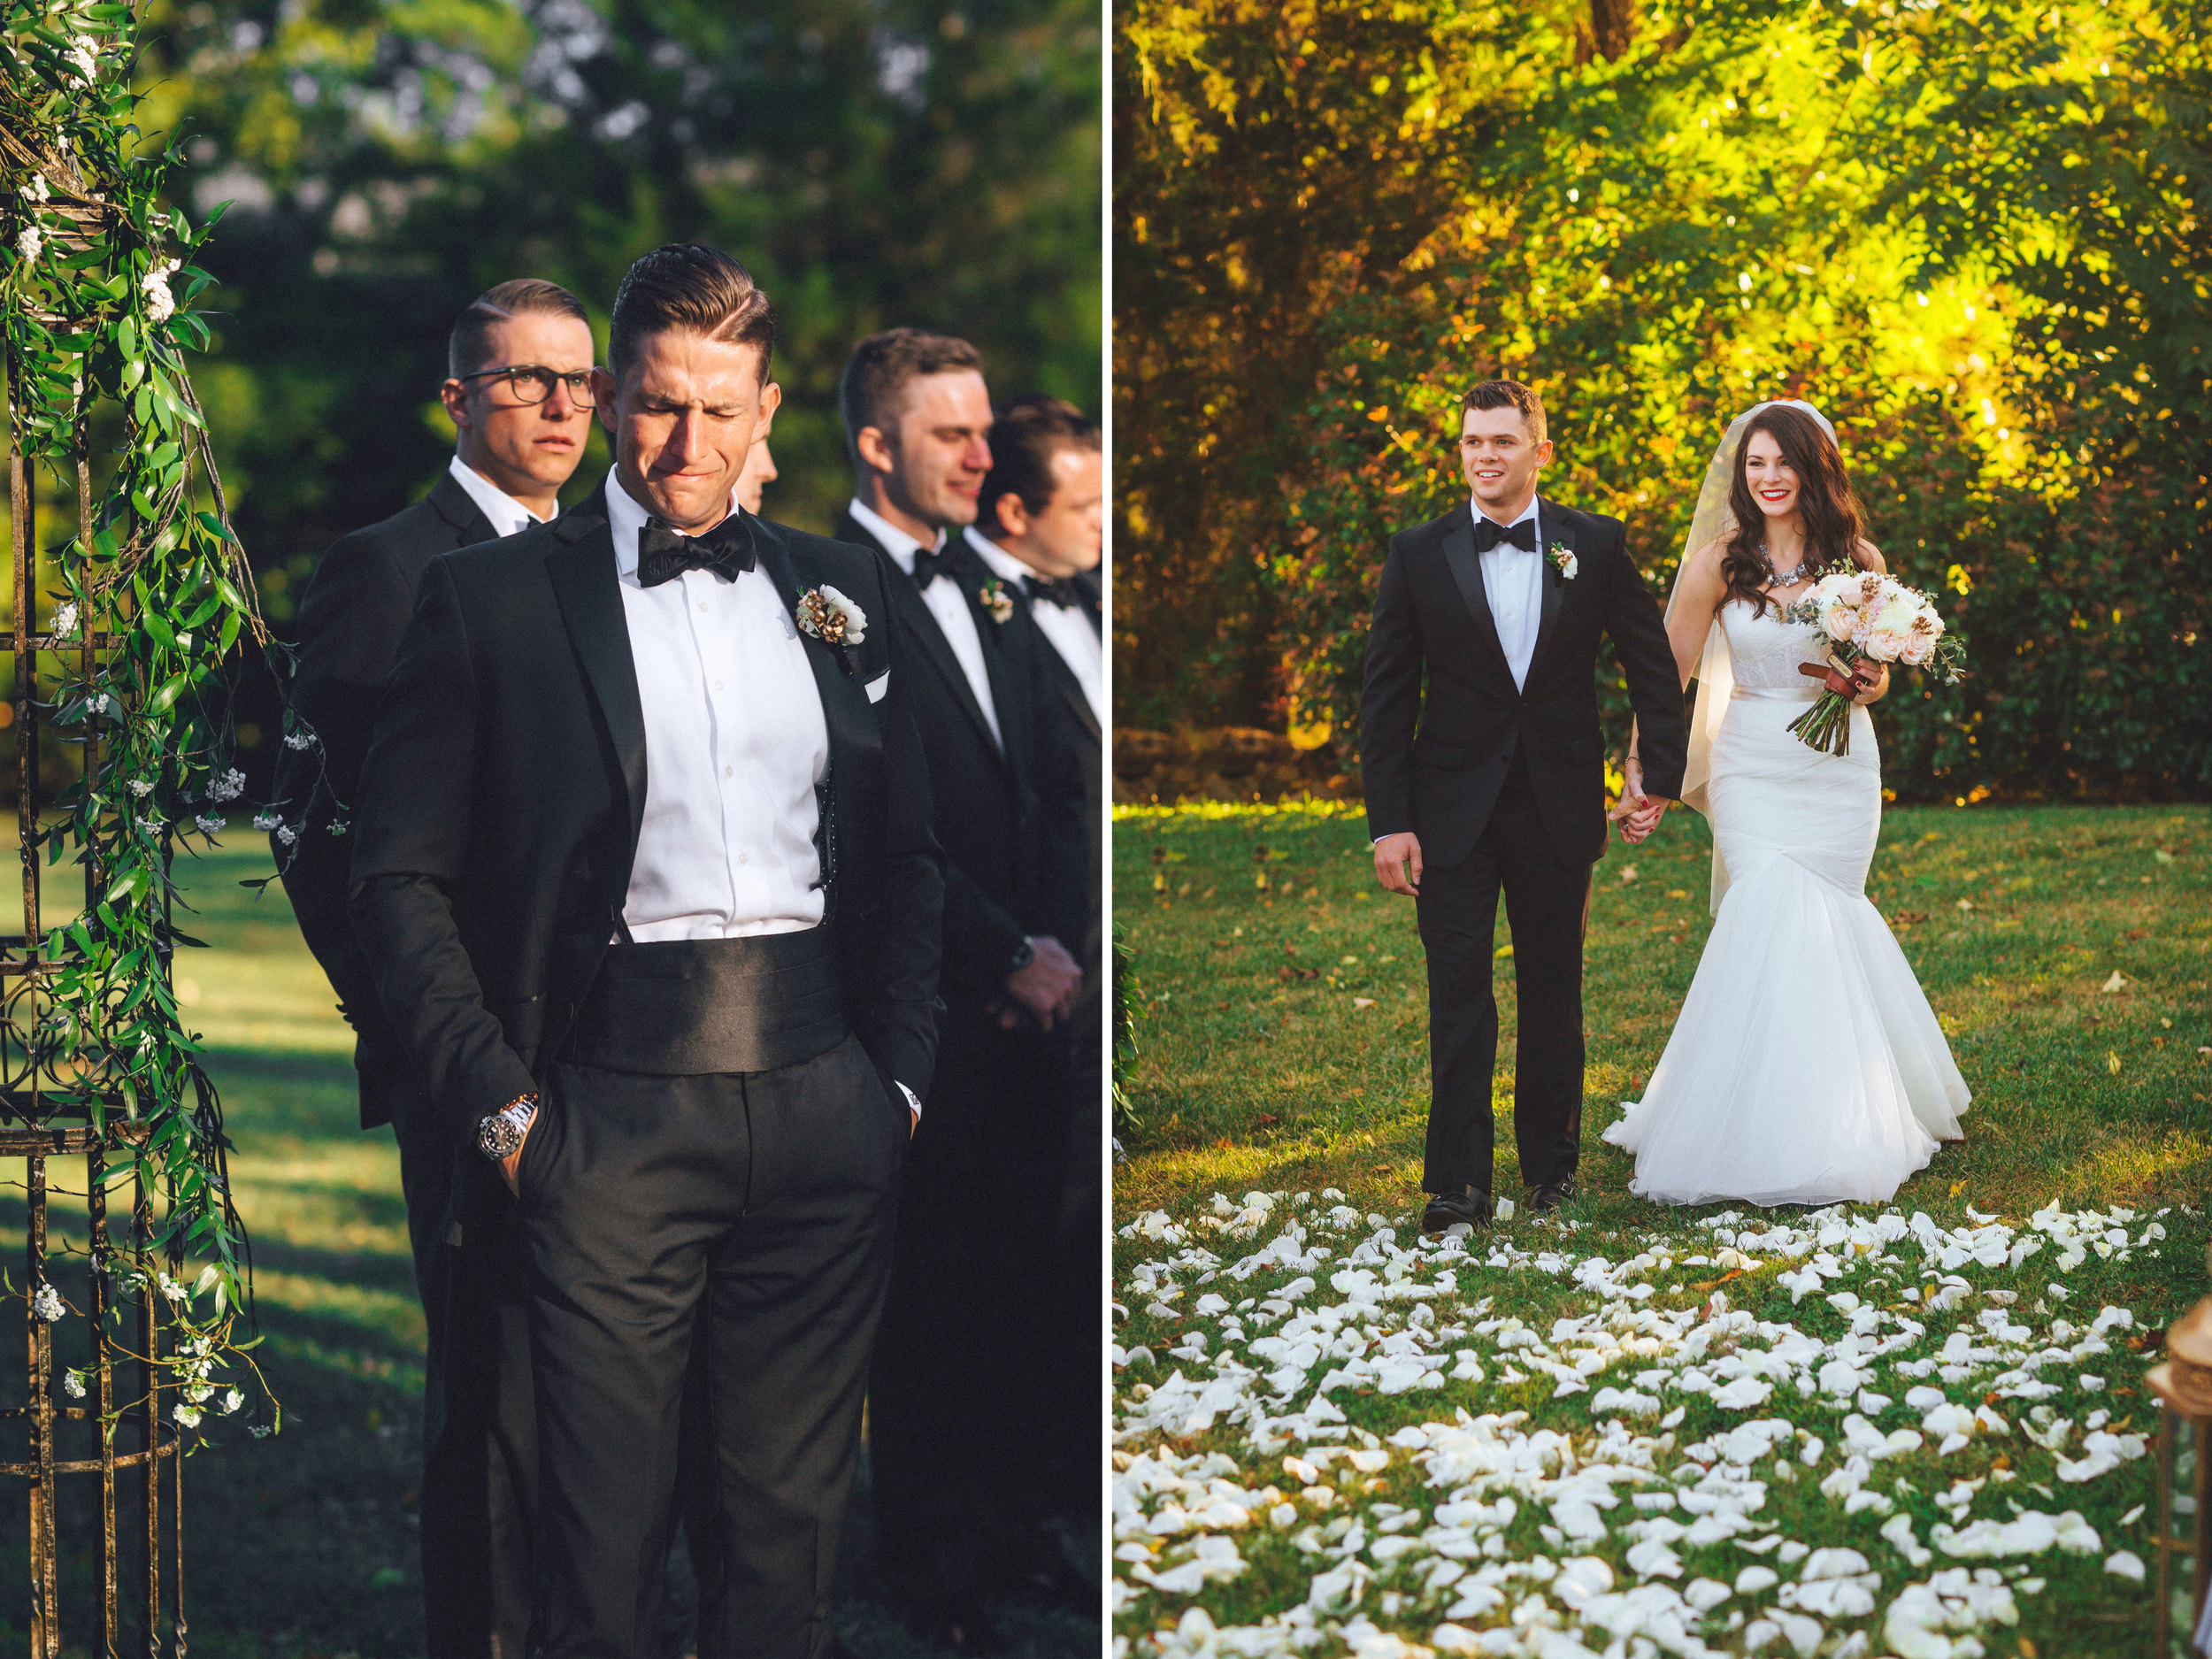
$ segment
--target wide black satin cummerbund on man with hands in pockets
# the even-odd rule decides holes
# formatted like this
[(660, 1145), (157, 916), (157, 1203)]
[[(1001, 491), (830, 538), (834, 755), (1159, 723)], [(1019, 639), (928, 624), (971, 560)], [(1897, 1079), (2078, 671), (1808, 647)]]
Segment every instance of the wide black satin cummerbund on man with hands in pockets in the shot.
[(845, 1042), (830, 927), (611, 945), (568, 1057), (599, 1071), (701, 1077), (776, 1071)]

